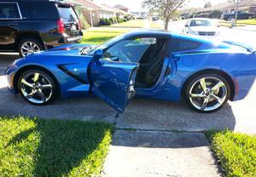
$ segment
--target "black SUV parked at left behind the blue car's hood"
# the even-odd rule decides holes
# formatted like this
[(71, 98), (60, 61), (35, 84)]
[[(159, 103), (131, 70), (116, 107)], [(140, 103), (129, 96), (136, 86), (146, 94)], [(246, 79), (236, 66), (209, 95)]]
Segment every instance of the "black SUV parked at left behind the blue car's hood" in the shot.
[(83, 37), (78, 15), (70, 3), (53, 0), (0, 1), (0, 51), (21, 56)]

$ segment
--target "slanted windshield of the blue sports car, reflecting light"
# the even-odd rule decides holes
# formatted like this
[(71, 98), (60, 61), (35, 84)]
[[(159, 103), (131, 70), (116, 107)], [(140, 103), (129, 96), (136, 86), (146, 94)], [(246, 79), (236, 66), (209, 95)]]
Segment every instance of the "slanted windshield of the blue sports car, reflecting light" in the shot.
[(102, 43), (100, 45), (94, 45), (85, 47), (84, 49), (81, 50), (80, 54), (83, 55), (93, 55), (96, 49), (106, 49), (109, 46), (112, 46), (114, 43), (117, 43), (119, 40), (125, 38), (125, 34), (119, 35), (117, 37), (113, 37), (112, 39), (108, 40), (106, 43)]

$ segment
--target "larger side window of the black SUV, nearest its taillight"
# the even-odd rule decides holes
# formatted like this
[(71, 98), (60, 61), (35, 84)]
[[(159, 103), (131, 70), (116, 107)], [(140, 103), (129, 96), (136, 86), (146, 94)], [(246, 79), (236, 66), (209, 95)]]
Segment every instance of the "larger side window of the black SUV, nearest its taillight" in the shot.
[(37, 2), (20, 3), (23, 18), (28, 20), (57, 20), (58, 13), (55, 3)]

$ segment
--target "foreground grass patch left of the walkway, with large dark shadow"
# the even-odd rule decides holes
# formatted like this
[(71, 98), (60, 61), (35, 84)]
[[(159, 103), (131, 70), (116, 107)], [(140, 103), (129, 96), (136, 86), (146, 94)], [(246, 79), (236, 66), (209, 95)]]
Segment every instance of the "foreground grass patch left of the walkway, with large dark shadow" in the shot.
[(96, 176), (113, 126), (0, 117), (0, 176)]

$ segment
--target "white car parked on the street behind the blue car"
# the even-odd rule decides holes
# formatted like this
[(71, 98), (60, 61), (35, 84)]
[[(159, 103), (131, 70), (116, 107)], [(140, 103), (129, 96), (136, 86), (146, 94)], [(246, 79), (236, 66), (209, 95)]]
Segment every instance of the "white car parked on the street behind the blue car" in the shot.
[(183, 33), (212, 37), (218, 36), (220, 31), (218, 29), (218, 23), (214, 20), (207, 18), (195, 18), (187, 21), (183, 28)]

